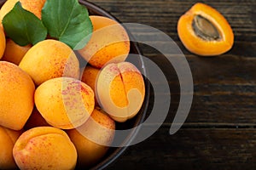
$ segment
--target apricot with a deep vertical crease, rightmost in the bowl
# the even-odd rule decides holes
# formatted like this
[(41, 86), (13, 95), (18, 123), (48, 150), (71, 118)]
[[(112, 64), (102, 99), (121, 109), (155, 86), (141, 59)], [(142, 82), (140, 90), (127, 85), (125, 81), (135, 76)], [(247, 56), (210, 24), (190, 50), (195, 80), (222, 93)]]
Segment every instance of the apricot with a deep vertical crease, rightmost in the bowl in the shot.
[[(124, 63), (125, 67), (122, 68), (122, 65), (124, 65)], [(108, 65), (107, 69), (105, 68), (106, 70), (102, 70), (103, 74), (99, 75), (97, 79), (98, 81), (96, 83), (97, 95), (100, 95), (97, 96), (98, 98), (100, 98), (100, 105), (102, 105), (103, 110), (107, 111), (108, 115), (117, 122), (125, 122), (126, 120), (135, 116), (140, 110), (142, 101), (144, 99), (144, 87), (142, 89), (142, 92), (139, 89), (132, 87), (132, 85), (129, 88), (125, 87), (128, 85), (126, 83), (130, 83), (124, 81), (125, 71), (130, 71), (132, 72), (132, 74), (135, 75), (139, 73), (139, 71), (134, 67), (127, 68), (126, 66), (131, 65), (128, 64), (128, 62), (122, 62), (122, 64)], [(116, 77), (120, 77), (119, 81), (121, 82), (119, 83), (119, 87), (113, 86), (113, 82), (115, 81)], [(123, 95), (120, 95), (119, 93), (121, 88), (124, 90), (124, 92), (122, 92)], [(116, 100), (121, 97), (125, 98), (123, 99), (123, 101), (125, 100), (125, 103), (119, 105)]]

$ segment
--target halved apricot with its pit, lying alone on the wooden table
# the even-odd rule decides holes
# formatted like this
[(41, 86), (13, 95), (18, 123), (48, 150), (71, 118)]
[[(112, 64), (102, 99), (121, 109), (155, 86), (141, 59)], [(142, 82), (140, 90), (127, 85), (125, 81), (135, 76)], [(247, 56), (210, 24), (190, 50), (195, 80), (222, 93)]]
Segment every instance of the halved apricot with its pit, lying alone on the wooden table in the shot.
[(234, 43), (228, 21), (204, 3), (195, 3), (179, 18), (177, 33), (185, 48), (201, 56), (224, 54)]

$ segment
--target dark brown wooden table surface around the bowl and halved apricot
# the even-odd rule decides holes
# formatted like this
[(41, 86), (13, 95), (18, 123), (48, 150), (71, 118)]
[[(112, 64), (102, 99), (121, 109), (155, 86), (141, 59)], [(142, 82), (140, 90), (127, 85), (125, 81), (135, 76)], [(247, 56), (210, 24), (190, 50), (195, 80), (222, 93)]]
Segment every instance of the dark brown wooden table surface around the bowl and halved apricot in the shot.
[(105, 8), (124, 23), (153, 26), (172, 37), (185, 54), (194, 81), (189, 116), (183, 127), (170, 135), (179, 102), (178, 88), (175, 88), (177, 77), (160, 53), (141, 46), (143, 54), (160, 65), (166, 74), (172, 92), (170, 111), (154, 135), (129, 147), (108, 169), (255, 169), (256, 2), (203, 1), (224, 14), (235, 33), (233, 48), (212, 58), (189, 53), (177, 36), (178, 18), (196, 1), (90, 2)]

